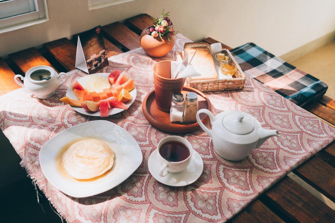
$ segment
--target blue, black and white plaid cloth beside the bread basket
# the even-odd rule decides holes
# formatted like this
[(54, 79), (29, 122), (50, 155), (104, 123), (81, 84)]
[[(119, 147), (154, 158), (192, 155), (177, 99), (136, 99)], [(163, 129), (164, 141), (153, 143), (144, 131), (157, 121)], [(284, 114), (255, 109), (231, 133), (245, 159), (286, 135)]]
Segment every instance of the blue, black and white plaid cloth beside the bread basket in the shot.
[(303, 105), (328, 89), (327, 84), (274, 56), (254, 43), (230, 51), (245, 74), (265, 84), (297, 105)]

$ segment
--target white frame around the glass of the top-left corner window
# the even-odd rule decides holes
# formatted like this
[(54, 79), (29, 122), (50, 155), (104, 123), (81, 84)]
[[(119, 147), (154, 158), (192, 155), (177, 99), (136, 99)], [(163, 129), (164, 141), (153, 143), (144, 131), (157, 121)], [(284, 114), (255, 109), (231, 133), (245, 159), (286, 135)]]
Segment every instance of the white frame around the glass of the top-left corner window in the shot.
[[(6, 3), (12, 1), (16, 0), (0, 2), (0, 8), (5, 7)], [(32, 0), (32, 1), (34, 1), (35, 3), (35, 11), (0, 19), (0, 33), (48, 21), (49, 16), (47, 9), (47, 1), (46, 0)], [(3, 4), (3, 6), (1, 6), (1, 4)]]

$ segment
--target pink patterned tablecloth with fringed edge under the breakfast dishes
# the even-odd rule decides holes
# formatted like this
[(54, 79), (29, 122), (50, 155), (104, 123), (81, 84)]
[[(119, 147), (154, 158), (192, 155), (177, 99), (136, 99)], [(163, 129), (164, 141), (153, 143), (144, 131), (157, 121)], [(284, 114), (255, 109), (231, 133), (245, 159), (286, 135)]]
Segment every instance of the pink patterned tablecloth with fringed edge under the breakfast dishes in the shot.
[[(203, 131), (180, 134), (193, 145), (204, 161), (200, 178), (186, 187), (173, 188), (157, 182), (147, 161), (160, 139), (169, 135), (151, 126), (142, 113), (142, 100), (153, 88), (153, 65), (175, 59), (176, 50), (190, 42), (178, 34), (173, 50), (164, 58), (152, 59), (142, 49), (110, 58), (101, 72), (126, 70), (135, 81), (136, 100), (122, 113), (106, 118), (127, 130), (138, 142), (143, 163), (118, 187), (88, 198), (72, 198), (57, 190), (43, 175), (39, 163), (42, 145), (57, 133), (97, 118), (80, 115), (60, 102), (66, 86), (45, 100), (21, 88), (0, 97), (0, 127), (20, 155), (21, 165), (37, 181), (67, 222), (222, 222), (231, 218), (293, 168), (335, 139), (335, 129), (306, 110), (247, 77), (244, 90), (208, 93), (216, 115), (222, 110), (242, 110), (253, 115), (280, 137), (268, 139), (247, 159), (230, 162), (213, 150)], [(69, 83), (86, 75), (74, 70)]]

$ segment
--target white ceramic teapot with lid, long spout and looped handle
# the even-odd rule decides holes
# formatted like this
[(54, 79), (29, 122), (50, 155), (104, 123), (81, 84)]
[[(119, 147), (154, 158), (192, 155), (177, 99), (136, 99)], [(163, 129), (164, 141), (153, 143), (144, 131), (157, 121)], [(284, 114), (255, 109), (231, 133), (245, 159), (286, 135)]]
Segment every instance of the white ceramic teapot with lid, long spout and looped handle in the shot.
[[(212, 130), (201, 122), (201, 113), (209, 116)], [(263, 129), (257, 119), (243, 111), (223, 111), (215, 117), (209, 110), (200, 109), (197, 121), (212, 137), (215, 152), (231, 161), (247, 158), (251, 151), (260, 147), (265, 140), (271, 136), (279, 136), (278, 131)]]

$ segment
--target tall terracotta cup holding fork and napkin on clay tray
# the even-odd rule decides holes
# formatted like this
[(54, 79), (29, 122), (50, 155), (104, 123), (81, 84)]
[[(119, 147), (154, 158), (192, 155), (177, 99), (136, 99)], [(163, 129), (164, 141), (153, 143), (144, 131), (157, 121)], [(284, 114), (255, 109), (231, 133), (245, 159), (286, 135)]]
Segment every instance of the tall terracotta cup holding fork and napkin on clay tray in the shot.
[(172, 95), (181, 92), (186, 78), (171, 79), (171, 60), (163, 60), (153, 66), (155, 100), (157, 108), (170, 112)]

